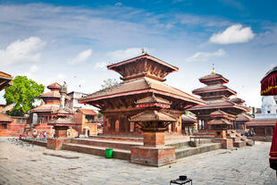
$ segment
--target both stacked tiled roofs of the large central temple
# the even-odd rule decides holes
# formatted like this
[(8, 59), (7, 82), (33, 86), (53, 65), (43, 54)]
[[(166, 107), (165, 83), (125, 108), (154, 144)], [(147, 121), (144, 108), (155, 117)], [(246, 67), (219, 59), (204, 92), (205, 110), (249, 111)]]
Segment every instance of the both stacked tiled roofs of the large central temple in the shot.
[[(94, 105), (101, 109), (108, 107), (119, 108), (120, 106), (127, 108), (130, 105), (134, 107), (135, 101), (139, 99), (132, 97), (155, 93), (155, 95), (171, 101), (173, 108), (183, 109), (188, 105), (204, 104), (197, 97), (193, 97), (177, 88), (172, 88), (164, 84), (162, 82), (165, 80), (164, 77), (170, 72), (178, 71), (178, 68), (154, 56), (147, 54), (140, 55), (121, 63), (108, 65), (107, 68), (119, 72), (122, 75), (123, 82), (111, 88), (97, 91), (87, 97), (82, 97), (79, 100), (80, 103)], [(109, 103), (103, 101), (112, 98), (121, 98), (122, 100)], [(178, 104), (176, 100), (178, 100)]]

